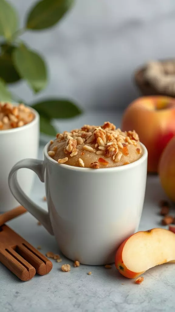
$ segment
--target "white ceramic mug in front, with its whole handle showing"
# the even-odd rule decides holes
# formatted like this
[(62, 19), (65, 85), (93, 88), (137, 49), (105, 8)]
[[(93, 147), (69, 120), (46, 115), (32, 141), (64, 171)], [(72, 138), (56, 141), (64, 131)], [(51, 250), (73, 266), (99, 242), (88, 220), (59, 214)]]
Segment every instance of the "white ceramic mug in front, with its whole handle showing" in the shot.
[[(142, 213), (147, 149), (125, 166), (81, 168), (44, 160), (24, 159), (9, 174), (9, 187), (17, 200), (54, 234), (60, 250), (71, 260), (87, 265), (114, 262), (117, 247), (137, 231)], [(48, 212), (22, 192), (17, 171), (29, 168), (45, 181)]]

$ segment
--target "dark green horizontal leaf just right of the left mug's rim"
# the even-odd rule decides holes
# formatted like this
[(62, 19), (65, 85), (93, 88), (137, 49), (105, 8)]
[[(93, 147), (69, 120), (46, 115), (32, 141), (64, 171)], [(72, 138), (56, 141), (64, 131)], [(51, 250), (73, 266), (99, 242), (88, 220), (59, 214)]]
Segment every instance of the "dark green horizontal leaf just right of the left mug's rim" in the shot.
[(81, 110), (68, 100), (46, 100), (32, 105), (47, 118), (71, 118), (81, 114)]

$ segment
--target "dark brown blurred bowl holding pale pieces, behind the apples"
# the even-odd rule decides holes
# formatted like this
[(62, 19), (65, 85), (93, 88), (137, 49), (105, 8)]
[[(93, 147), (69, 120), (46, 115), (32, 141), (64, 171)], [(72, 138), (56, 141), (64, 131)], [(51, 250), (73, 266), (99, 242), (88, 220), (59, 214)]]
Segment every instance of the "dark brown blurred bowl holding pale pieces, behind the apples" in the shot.
[[(165, 60), (162, 62), (165, 62)], [(161, 93), (158, 90), (156, 90), (154, 86), (150, 85), (149, 82), (146, 81), (144, 78), (144, 71), (145, 71), (145, 66), (135, 71), (135, 75), (134, 75), (135, 83), (137, 87), (139, 88), (142, 95), (164, 95), (164, 96), (175, 97), (174, 94), (170, 94), (169, 92)]]

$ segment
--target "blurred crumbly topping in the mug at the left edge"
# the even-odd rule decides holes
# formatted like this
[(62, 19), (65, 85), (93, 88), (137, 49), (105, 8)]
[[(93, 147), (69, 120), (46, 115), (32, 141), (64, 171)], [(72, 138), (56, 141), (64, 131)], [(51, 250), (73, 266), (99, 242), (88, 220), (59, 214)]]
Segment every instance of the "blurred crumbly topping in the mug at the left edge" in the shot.
[(13, 106), (8, 102), (0, 102), (0, 130), (22, 127), (30, 123), (35, 115), (24, 104)]

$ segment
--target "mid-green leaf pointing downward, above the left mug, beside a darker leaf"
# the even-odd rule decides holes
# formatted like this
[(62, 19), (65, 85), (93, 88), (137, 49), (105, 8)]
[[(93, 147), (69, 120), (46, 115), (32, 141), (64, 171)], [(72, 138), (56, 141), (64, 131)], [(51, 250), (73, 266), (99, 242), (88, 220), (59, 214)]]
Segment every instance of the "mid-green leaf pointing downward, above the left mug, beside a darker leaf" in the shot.
[(39, 54), (29, 50), (24, 44), (13, 52), (14, 65), (34, 92), (43, 90), (47, 84), (47, 71), (44, 60)]

